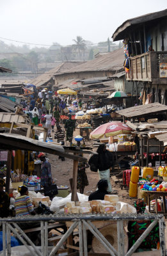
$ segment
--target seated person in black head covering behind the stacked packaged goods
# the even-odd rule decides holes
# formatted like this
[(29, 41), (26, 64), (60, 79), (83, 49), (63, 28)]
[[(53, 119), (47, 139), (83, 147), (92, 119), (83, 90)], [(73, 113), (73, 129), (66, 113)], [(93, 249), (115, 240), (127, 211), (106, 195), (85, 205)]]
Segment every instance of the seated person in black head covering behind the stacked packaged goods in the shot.
[(92, 200), (104, 200), (104, 196), (108, 194), (108, 182), (107, 180), (99, 180), (97, 183), (97, 191), (93, 192), (89, 196), (89, 201)]

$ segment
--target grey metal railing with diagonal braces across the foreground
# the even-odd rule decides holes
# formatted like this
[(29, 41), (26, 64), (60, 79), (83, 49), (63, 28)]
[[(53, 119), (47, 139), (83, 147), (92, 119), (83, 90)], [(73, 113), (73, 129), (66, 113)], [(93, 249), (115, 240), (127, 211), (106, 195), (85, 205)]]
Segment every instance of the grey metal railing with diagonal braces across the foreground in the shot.
[[(67, 232), (63, 234), (60, 241), (56, 246), (52, 247), (51, 252), (48, 252), (48, 221), (72, 221), (72, 225), (68, 228)], [(113, 248), (113, 246), (107, 241), (107, 239), (100, 233), (100, 230), (93, 225), (92, 221), (116, 221), (117, 233), (118, 233), (118, 252)], [(147, 227), (145, 232), (141, 234), (139, 239), (134, 243), (131, 249), (125, 253), (124, 249), (124, 233), (123, 233), (123, 221), (141, 221), (141, 220), (152, 220), (152, 223)], [(29, 237), (24, 233), (24, 231), (19, 227), (19, 223), (25, 222), (37, 222), (40, 221), (41, 230), (41, 251), (33, 244)], [(164, 216), (162, 214), (90, 214), (90, 215), (49, 215), (49, 216), (29, 216), (20, 218), (1, 218), (0, 223), (3, 225), (3, 256), (11, 255), (11, 236), (10, 233), (13, 232), (15, 237), (17, 237), (22, 244), (28, 248), (31, 255), (37, 256), (53, 256), (61, 248), (63, 243), (67, 238), (74, 232), (75, 228), (79, 230), (79, 255), (88, 256), (88, 246), (87, 246), (87, 232), (90, 232), (100, 241), (107, 252), (112, 256), (130, 256), (136, 251), (138, 246), (143, 242), (143, 240), (148, 236), (150, 231), (159, 223), (159, 239), (160, 239), (160, 250), (161, 255), (166, 255), (165, 248), (165, 237), (164, 237)], [(30, 246), (29, 246), (30, 245)], [(99, 252), (100, 253), (100, 252)]]

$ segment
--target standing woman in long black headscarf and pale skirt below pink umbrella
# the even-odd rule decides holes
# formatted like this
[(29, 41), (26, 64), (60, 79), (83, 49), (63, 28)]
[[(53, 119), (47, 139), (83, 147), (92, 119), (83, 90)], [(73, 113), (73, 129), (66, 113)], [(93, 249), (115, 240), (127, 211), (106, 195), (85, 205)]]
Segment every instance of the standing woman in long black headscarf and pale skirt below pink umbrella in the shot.
[(113, 155), (106, 150), (106, 144), (102, 143), (99, 145), (99, 148), (97, 148), (97, 153), (99, 154), (98, 157), (98, 172), (99, 172), (99, 178), (107, 180), (108, 182), (108, 189), (107, 191), (111, 194), (117, 193), (116, 191), (113, 191), (111, 187), (110, 182), (110, 168), (113, 165)]

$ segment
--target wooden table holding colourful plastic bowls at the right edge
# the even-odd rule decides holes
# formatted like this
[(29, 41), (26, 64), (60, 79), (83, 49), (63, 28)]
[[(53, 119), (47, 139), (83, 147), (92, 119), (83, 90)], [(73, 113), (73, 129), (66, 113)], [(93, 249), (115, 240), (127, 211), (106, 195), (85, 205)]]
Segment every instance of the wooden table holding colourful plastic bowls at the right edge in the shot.
[(157, 205), (157, 199), (160, 197), (160, 196), (162, 196), (163, 197), (163, 214), (164, 214), (164, 216), (167, 216), (167, 211), (166, 211), (166, 200), (165, 200), (165, 197), (167, 196), (167, 191), (165, 191), (165, 192), (159, 192), (159, 191), (145, 191), (146, 193), (147, 193), (147, 196), (148, 196), (148, 211), (149, 212), (152, 212), (151, 211), (151, 207), (150, 207), (150, 196), (151, 195), (154, 195), (154, 198), (155, 198), (155, 212), (156, 212), (156, 214), (157, 213), (160, 213), (160, 212), (158, 212), (158, 209), (157, 209), (157, 207), (158, 207), (158, 205)]

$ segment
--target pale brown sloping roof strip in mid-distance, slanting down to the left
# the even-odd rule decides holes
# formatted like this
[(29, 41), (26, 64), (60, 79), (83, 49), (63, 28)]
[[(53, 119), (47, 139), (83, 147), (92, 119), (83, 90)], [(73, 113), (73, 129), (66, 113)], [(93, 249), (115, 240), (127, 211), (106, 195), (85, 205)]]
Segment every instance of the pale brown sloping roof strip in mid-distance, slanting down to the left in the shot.
[(70, 70), (70, 68), (81, 65), (81, 63), (83, 62), (80, 62), (80, 61), (63, 62), (60, 65), (58, 65), (58, 67), (52, 68), (51, 70), (31, 80), (31, 84), (34, 84), (36, 87), (40, 87), (43, 84), (49, 83), (49, 81), (51, 81), (52, 79), (52, 76), (57, 74), (57, 72), (64, 72), (64, 70)]

